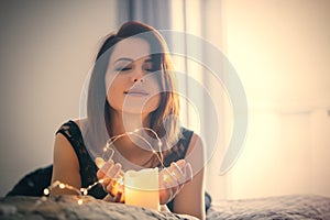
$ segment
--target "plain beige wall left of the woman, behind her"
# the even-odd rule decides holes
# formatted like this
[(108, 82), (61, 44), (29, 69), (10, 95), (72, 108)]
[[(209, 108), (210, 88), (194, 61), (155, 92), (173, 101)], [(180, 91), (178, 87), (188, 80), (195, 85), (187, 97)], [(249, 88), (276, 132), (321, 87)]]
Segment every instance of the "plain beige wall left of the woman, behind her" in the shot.
[(1, 1), (0, 196), (52, 163), (55, 131), (79, 117), (85, 76), (116, 1)]

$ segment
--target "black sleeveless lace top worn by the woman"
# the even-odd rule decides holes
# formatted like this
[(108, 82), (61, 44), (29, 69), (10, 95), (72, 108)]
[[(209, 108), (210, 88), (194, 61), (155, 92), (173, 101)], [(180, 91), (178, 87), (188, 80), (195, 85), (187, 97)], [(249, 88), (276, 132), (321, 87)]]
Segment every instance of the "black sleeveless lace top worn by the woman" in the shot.
[[(88, 187), (96, 183), (98, 180), (96, 175), (98, 168), (86, 148), (79, 127), (74, 121), (68, 121), (59, 128), (56, 134), (57, 133), (62, 133), (66, 136), (76, 152), (80, 167), (81, 187)], [(193, 136), (193, 131), (183, 128), (182, 134), (183, 138), (179, 139), (178, 143), (173, 146), (165, 156), (165, 166), (169, 166), (172, 162), (185, 157)], [(88, 194), (99, 199), (102, 199), (107, 195), (100, 185), (90, 189)], [(169, 204), (168, 207), (172, 208), (172, 204)]]

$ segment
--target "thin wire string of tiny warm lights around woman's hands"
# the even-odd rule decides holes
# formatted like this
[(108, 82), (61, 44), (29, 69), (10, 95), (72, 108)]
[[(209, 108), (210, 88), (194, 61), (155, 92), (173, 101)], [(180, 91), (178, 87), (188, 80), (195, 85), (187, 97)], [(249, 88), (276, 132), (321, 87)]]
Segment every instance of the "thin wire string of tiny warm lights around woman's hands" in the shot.
[[(141, 131), (148, 131), (151, 132), (157, 140), (157, 146), (158, 146), (158, 153), (156, 150), (154, 150), (154, 147), (152, 146), (152, 144), (144, 138), (142, 136), (141, 134), (139, 134), (139, 132)], [(134, 131), (132, 132), (125, 132), (125, 133), (122, 133), (122, 134), (119, 134), (119, 135), (114, 135), (112, 138), (110, 138), (108, 141), (107, 141), (107, 144), (106, 146), (103, 147), (103, 154), (102, 154), (102, 158), (105, 158), (106, 154), (108, 153), (108, 151), (110, 151), (110, 156), (108, 157), (108, 160), (111, 160), (113, 157), (113, 154), (114, 154), (114, 150), (112, 148), (113, 144), (116, 141), (118, 141), (119, 139), (121, 138), (124, 138), (124, 136), (136, 136), (139, 139), (141, 139), (143, 142), (146, 143), (146, 145), (150, 147), (150, 150), (152, 151), (152, 153), (154, 155), (156, 155), (160, 164), (161, 164), (161, 169), (165, 169), (167, 170), (167, 168), (165, 167), (164, 163), (163, 163), (163, 153), (162, 153), (162, 141), (158, 136), (158, 134), (150, 129), (150, 128), (140, 128), (140, 129), (135, 129)], [(175, 173), (173, 172), (169, 172), (167, 170), (168, 175), (170, 176), (175, 176)], [(168, 182), (169, 177), (165, 174), (163, 176), (163, 180), (164, 182)], [(52, 189), (58, 187), (59, 189), (68, 189), (68, 190), (72, 190), (72, 191), (75, 191), (78, 196), (80, 196), (80, 198), (78, 199), (78, 205), (82, 205), (84, 204), (84, 200), (81, 197), (84, 196), (87, 196), (88, 195), (88, 191), (94, 188), (95, 186), (97, 186), (98, 184), (102, 184), (105, 182), (105, 179), (99, 179), (98, 182), (95, 182), (94, 184), (89, 185), (88, 187), (86, 188), (76, 188), (72, 185), (68, 185), (68, 184), (65, 184), (65, 183), (62, 183), (59, 180), (55, 180), (51, 186), (48, 186), (47, 188), (44, 189), (43, 194), (44, 196), (50, 196), (51, 195), (51, 191)], [(123, 179), (123, 176), (121, 175), (118, 179), (116, 179), (116, 184), (119, 184), (120, 186), (123, 186), (124, 184), (124, 179)], [(120, 193), (122, 194), (121, 191), (117, 191), (117, 193)]]

